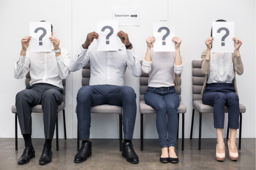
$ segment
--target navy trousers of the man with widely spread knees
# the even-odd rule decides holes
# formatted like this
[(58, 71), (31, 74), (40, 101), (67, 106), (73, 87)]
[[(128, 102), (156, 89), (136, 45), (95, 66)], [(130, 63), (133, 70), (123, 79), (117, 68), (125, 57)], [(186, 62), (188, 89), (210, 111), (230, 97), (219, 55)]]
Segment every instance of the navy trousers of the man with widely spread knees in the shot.
[(132, 140), (137, 112), (136, 94), (132, 87), (109, 84), (84, 86), (78, 91), (76, 101), (80, 140), (90, 138), (91, 106), (104, 104), (123, 106), (124, 138)]

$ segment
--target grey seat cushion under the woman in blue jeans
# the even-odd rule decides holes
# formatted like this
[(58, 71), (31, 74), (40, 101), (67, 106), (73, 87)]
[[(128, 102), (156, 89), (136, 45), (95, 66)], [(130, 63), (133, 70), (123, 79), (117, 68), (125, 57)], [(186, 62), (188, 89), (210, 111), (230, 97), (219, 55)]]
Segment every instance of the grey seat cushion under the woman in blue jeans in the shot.
[[(178, 107), (178, 113), (186, 113), (187, 108), (186, 106), (180, 102), (180, 106)], [(155, 109), (153, 109), (151, 106), (147, 105), (145, 101), (140, 101), (140, 113), (141, 114), (155, 114), (157, 113)]]

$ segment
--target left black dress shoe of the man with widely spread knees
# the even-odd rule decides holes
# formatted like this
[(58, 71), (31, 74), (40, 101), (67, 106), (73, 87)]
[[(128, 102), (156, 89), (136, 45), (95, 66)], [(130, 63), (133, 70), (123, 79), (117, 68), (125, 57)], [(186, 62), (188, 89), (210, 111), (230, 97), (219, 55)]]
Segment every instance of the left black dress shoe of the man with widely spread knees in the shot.
[(91, 147), (93, 147), (91, 141), (83, 143), (80, 150), (75, 155), (74, 162), (81, 163), (86, 161), (87, 157), (91, 156)]

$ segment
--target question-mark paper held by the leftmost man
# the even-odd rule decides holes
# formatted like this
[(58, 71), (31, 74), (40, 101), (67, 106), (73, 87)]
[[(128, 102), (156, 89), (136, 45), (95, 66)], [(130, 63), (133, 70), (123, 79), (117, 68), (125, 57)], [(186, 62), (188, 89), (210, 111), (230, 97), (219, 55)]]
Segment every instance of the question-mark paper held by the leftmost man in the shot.
[(31, 36), (29, 46), (32, 52), (52, 51), (51, 22), (29, 22), (29, 35)]

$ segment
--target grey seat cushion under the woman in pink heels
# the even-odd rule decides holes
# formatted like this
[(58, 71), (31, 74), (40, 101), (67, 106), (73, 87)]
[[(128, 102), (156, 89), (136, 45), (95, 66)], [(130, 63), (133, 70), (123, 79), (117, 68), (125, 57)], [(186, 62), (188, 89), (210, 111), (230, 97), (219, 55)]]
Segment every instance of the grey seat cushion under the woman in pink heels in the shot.
[[(213, 106), (204, 105), (202, 100), (193, 101), (193, 107), (201, 113), (213, 113)], [(245, 113), (245, 106), (239, 103), (240, 113)], [(225, 113), (228, 113), (228, 107), (225, 106)]]

